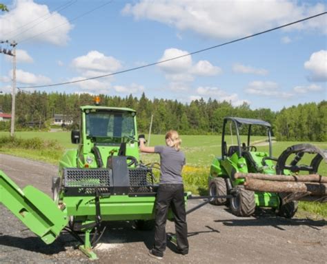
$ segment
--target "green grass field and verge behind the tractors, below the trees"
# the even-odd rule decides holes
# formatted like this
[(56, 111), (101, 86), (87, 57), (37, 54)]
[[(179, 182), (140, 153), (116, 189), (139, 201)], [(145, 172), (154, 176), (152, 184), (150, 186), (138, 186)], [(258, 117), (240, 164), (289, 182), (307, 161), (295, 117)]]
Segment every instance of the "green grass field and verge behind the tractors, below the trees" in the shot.
[[(3, 140), (4, 139), (4, 140)], [(186, 154), (186, 166), (183, 178), (186, 191), (193, 194), (208, 194), (208, 175), (212, 160), (221, 156), (221, 136), (216, 135), (185, 135), (181, 136), (182, 150)], [(230, 137), (226, 138), (231, 143)], [(264, 144), (265, 136), (253, 136), (252, 144), (257, 143), (257, 150), (268, 152)], [(246, 136), (241, 136), (246, 142)], [(284, 141), (273, 143), (273, 156), (278, 157), (288, 146), (300, 142)], [(151, 135), (150, 145), (164, 145), (164, 135)], [(236, 143), (234, 143), (236, 144)], [(313, 142), (318, 148), (327, 149), (325, 142)], [(70, 143), (70, 132), (16, 132), (15, 140), (10, 141), (8, 132), (0, 132), (0, 152), (22, 156), (27, 159), (58, 164), (66, 149), (77, 148)], [(141, 154), (143, 163), (159, 162), (157, 154)], [(304, 163), (305, 163), (304, 159)], [(327, 163), (321, 162), (319, 174), (327, 175)], [(299, 202), (297, 216), (306, 217), (308, 214), (327, 217), (327, 203)], [(314, 217), (315, 217), (314, 216)], [(310, 216), (311, 217), (311, 216)]]

